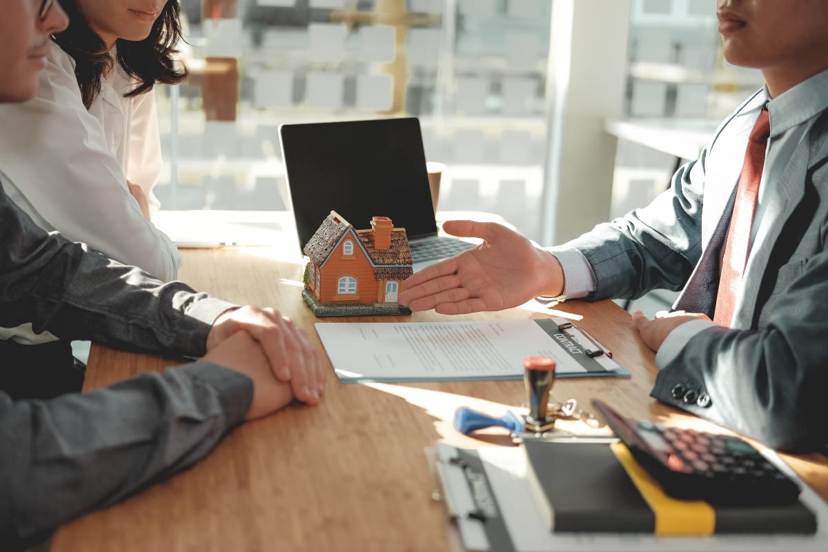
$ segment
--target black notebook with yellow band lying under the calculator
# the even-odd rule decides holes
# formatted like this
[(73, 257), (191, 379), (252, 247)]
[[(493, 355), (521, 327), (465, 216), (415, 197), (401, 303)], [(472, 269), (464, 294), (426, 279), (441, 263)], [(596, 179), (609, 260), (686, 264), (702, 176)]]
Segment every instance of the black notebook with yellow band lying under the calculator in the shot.
[(816, 532), (802, 502), (776, 506), (711, 506), (668, 497), (623, 444), (529, 440), (527, 479), (551, 530), (710, 535)]

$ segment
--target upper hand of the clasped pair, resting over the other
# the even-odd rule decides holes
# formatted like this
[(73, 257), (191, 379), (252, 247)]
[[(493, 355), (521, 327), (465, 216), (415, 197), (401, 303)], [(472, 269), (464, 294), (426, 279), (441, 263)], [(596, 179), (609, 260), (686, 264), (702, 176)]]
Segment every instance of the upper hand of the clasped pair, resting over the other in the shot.
[(229, 310), (215, 319), (207, 336), (207, 350), (244, 330), (258, 342), (271, 372), (280, 382), (290, 382), (300, 401), (315, 405), (325, 392), (322, 356), (291, 319), (275, 309), (247, 305)]

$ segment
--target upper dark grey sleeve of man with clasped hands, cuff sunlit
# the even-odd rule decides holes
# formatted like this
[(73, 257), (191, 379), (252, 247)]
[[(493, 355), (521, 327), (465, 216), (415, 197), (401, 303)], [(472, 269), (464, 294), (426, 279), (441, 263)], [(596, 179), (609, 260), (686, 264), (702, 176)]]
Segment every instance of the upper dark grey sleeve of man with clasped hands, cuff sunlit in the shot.
[(31, 322), (36, 332), (116, 348), (200, 355), (210, 325), (232, 304), (164, 284), (49, 235), (0, 187), (0, 326)]

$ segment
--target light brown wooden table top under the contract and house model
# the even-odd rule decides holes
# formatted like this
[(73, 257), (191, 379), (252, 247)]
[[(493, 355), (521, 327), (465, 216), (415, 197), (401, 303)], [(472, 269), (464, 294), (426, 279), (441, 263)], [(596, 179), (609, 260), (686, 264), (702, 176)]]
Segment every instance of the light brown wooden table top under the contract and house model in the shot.
[[(238, 303), (278, 305), (319, 343), (318, 321), (301, 301), (303, 266), (281, 249), (247, 247), (184, 252), (181, 279)], [(610, 301), (469, 315), (468, 319), (570, 316), (614, 352), (633, 377), (558, 380), (553, 395), (582, 405), (601, 396), (622, 412), (652, 420), (704, 424), (648, 397), (656, 368), (628, 314)], [(447, 317), (433, 311), (413, 321)], [(396, 321), (365, 317), (354, 321)], [(341, 321), (344, 319), (327, 319)], [(321, 346), (321, 345), (320, 345)], [(171, 362), (94, 346), (87, 390)], [(457, 406), (500, 415), (526, 399), (522, 382), (406, 385), (339, 384), (333, 370), (319, 406), (291, 406), (234, 430), (194, 468), (117, 506), (61, 527), (51, 550), (450, 550), (424, 448), (437, 439), (465, 446), (508, 439), (457, 434)], [(785, 457), (828, 499), (828, 461)]]

